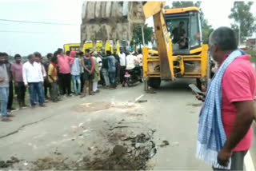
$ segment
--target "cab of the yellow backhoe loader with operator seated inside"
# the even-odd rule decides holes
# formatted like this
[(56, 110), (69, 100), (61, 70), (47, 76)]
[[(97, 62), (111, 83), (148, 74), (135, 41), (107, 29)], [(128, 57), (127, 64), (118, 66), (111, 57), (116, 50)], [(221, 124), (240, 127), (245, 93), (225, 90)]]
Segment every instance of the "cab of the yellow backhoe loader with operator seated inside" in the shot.
[(173, 53), (192, 54), (202, 46), (202, 30), (198, 7), (164, 10), (166, 27), (173, 43)]

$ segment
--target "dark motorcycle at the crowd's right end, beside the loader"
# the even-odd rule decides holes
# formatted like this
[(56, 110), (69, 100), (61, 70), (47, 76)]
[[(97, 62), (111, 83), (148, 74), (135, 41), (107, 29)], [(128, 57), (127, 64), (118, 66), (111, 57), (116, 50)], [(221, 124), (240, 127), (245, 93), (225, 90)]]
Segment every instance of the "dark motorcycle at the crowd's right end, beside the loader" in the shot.
[(136, 82), (142, 83), (141, 73), (142, 73), (142, 71), (139, 66), (136, 66), (132, 70), (126, 70), (125, 83), (123, 84), (123, 86), (125, 86), (126, 83), (129, 87), (134, 85)]

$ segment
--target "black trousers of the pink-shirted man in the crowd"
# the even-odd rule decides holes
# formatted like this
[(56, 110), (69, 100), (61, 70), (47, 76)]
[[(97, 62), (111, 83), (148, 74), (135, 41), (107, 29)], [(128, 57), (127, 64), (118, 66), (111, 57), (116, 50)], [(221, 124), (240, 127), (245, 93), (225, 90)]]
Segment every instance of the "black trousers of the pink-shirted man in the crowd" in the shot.
[(71, 75), (59, 74), (60, 84), (62, 85), (62, 95), (71, 93)]

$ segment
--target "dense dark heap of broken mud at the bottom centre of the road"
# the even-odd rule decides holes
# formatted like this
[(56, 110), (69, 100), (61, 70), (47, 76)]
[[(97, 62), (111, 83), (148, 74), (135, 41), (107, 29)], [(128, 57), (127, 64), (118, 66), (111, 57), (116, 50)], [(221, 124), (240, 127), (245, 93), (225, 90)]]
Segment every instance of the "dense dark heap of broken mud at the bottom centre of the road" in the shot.
[[(154, 130), (149, 133), (140, 133), (134, 137), (126, 137), (122, 133), (110, 133), (115, 137), (112, 149), (94, 147), (94, 155), (85, 156), (82, 160), (70, 161), (67, 157), (45, 157), (34, 161), (33, 170), (42, 169), (72, 169), (72, 170), (146, 170), (153, 169), (148, 161), (157, 153), (153, 141)], [(106, 135), (107, 137), (110, 134)]]

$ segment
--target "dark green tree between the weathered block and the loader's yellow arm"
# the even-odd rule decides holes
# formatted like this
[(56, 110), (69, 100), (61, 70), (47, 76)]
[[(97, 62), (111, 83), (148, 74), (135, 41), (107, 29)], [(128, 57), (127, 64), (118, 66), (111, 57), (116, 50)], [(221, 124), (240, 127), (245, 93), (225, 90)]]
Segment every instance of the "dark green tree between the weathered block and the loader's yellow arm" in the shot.
[[(148, 43), (151, 41), (152, 35), (154, 34), (153, 27), (149, 27), (149, 26), (145, 25), (143, 27), (143, 31), (144, 31), (145, 43), (146, 43), (146, 45), (148, 45)], [(134, 45), (140, 46), (140, 48), (141, 48), (141, 46), (143, 44), (143, 42), (142, 42), (142, 26), (138, 26), (134, 29), (133, 40), (134, 40)]]

